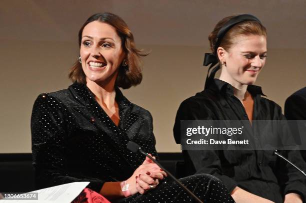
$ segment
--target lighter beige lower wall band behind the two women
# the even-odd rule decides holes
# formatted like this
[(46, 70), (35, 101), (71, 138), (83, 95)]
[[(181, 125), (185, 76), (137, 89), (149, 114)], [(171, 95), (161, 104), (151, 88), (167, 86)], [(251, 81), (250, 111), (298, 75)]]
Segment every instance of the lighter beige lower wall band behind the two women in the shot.
[[(179, 103), (201, 91), (207, 69), (202, 66), (207, 48), (200, 46), (150, 46), (143, 59), (143, 82), (124, 90), (125, 96), (153, 116), (156, 148), (178, 152), (172, 127)], [(77, 45), (53, 41), (1, 42), (0, 153), (28, 153), (30, 114), (42, 92), (66, 88), (67, 72), (77, 57)], [(287, 96), (306, 86), (306, 50), (268, 49), (267, 63), (256, 82), (267, 98), (281, 107)]]

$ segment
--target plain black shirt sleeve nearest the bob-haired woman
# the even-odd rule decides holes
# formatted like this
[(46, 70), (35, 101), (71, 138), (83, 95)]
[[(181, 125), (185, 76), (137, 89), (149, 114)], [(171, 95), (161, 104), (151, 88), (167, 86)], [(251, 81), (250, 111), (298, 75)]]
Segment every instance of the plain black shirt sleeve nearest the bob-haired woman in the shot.
[[(173, 127), (174, 139), (177, 144), (180, 143), (180, 121), (181, 120), (217, 120), (213, 119), (213, 113), (203, 103), (183, 101), (176, 114), (175, 124)], [(224, 175), (221, 168), (218, 151), (186, 151), (189, 159), (193, 163), (196, 173), (210, 174), (220, 179), (226, 189), (231, 192), (237, 183)]]

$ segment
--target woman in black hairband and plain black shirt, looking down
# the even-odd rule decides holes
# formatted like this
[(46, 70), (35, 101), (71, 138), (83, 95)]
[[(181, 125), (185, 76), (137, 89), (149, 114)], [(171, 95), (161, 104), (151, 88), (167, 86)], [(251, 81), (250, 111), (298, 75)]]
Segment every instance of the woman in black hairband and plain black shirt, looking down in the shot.
[[(240, 136), (252, 142), (258, 140), (261, 133), (260, 129), (255, 131), (252, 127), (256, 120), (285, 120), (281, 108), (263, 98), (261, 88), (253, 85), (265, 64), (266, 38), (265, 27), (253, 15), (228, 16), (215, 25), (208, 36), (211, 53), (206, 53), (204, 59), (204, 66), (210, 64), (210, 75), (208, 70), (204, 90), (184, 100), (177, 110), (173, 128), (177, 144), (180, 143), (181, 121), (241, 121), (244, 129), (254, 133), (249, 137)], [(218, 69), (221, 73), (219, 79), (215, 79)], [(265, 144), (256, 142), (256, 146)], [(183, 154), (196, 173), (219, 178), (236, 203), (302, 203), (305, 200), (305, 178), (273, 156), (272, 151), (228, 148), (186, 150)], [(298, 151), (282, 153), (304, 168)]]

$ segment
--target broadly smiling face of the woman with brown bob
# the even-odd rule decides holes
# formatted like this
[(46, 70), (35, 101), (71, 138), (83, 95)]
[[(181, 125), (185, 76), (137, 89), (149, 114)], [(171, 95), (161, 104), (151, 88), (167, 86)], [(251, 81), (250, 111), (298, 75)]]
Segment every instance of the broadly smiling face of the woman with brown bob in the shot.
[(114, 84), (123, 58), (121, 40), (113, 26), (93, 21), (84, 27), (80, 60), (87, 85), (110, 81)]

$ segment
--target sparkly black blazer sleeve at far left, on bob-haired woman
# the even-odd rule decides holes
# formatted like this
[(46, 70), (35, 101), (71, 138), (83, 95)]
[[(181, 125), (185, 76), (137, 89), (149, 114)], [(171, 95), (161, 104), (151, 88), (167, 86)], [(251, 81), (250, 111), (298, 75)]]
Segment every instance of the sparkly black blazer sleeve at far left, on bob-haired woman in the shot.
[(87, 188), (100, 192), (104, 181), (73, 177), (66, 170), (67, 130), (65, 107), (50, 94), (40, 94), (31, 116), (32, 157), (36, 188), (47, 188), (71, 182), (90, 182)]

